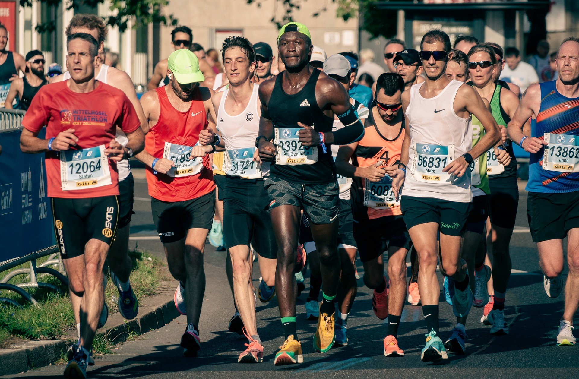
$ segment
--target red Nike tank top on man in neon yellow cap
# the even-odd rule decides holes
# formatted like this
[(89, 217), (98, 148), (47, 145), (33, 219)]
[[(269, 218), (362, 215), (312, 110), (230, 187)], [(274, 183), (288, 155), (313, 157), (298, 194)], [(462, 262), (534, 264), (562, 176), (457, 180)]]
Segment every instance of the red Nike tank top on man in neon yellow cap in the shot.
[[(166, 87), (169, 90), (171, 88)], [(155, 89), (159, 97), (159, 120), (145, 136), (145, 150), (155, 158), (163, 157), (165, 142), (194, 146), (199, 141), (199, 132), (206, 129), (208, 124), (199, 87), (195, 88), (191, 106), (185, 112), (179, 112), (171, 105), (165, 91), (166, 87)], [(173, 177), (160, 172), (155, 174), (151, 167), (147, 167), (146, 181), (149, 195), (157, 200), (173, 203), (210, 193), (215, 189), (215, 182), (208, 154), (203, 157), (202, 162), (201, 171), (189, 176)]]

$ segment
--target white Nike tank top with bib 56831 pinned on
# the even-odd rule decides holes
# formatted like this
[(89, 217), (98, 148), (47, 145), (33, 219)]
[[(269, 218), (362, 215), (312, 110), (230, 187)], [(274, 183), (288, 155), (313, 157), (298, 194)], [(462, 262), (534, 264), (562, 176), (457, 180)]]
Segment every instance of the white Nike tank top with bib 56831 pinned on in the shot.
[[(452, 80), (433, 98), (420, 95), (423, 84), (411, 87), (406, 109), (411, 146), (402, 196), (470, 203), (472, 191), (468, 170), (461, 178), (453, 175), (445, 178), (441, 173), (445, 165), (472, 148), (471, 117), (463, 119), (454, 111), (456, 93), (461, 85), (467, 84)], [(447, 147), (449, 153), (442, 153)]]

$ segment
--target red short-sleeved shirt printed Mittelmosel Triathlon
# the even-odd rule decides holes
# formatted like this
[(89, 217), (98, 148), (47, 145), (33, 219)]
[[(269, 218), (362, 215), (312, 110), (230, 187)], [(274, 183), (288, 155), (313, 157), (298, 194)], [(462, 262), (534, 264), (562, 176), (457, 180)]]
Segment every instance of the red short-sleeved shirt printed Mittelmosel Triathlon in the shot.
[[(71, 80), (71, 79), (69, 79)], [(71, 150), (108, 148), (115, 138), (116, 128), (125, 134), (133, 133), (141, 126), (137, 112), (123, 91), (102, 82), (88, 93), (77, 93), (68, 88), (68, 80), (46, 84), (32, 99), (24, 115), (22, 126), (36, 133), (46, 125), (46, 139), (56, 137), (61, 131), (74, 129), (78, 137)], [(46, 177), (48, 196), (60, 198), (88, 198), (119, 194), (116, 162), (106, 160), (111, 174), (111, 184), (63, 190), (61, 182), (60, 153), (46, 152)]]

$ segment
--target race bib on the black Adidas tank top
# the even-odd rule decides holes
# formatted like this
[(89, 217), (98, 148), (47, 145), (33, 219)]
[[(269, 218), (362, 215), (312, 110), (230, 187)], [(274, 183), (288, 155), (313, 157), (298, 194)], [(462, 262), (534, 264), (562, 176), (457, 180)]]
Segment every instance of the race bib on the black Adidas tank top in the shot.
[(302, 128), (274, 128), (276, 145), (276, 164), (314, 164), (318, 161), (317, 146), (302, 146), (299, 130)]

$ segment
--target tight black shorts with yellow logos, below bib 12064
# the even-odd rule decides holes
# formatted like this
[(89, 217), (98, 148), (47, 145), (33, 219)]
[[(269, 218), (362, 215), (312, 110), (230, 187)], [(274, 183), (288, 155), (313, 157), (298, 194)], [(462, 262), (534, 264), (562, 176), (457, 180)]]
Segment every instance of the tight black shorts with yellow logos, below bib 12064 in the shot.
[(63, 259), (83, 255), (93, 238), (111, 245), (119, 222), (117, 196), (50, 200), (56, 244)]

